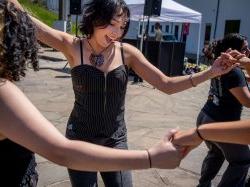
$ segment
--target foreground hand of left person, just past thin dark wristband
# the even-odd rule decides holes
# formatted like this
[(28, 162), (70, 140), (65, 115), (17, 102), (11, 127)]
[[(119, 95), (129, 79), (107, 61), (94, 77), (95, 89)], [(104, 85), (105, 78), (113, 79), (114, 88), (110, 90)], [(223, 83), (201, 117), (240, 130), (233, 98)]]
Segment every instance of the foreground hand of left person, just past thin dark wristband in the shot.
[(160, 143), (148, 150), (152, 168), (174, 169), (180, 165), (183, 158), (183, 148), (172, 144), (171, 140), (175, 133), (175, 130), (167, 132)]

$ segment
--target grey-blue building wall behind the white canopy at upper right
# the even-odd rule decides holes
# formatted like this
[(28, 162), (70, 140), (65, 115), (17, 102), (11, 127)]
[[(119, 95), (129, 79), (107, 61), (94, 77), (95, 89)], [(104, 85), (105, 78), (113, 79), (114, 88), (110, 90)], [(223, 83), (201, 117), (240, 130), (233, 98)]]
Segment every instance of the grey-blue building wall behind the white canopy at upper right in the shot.
[[(201, 25), (201, 42), (200, 51), (204, 46), (205, 39), (205, 25), (211, 23), (211, 40), (219, 39), (224, 36), (225, 22), (226, 20), (241, 20), (240, 34), (250, 37), (250, 24), (248, 18), (250, 17), (250, 1), (249, 0), (220, 0), (219, 14), (217, 29), (214, 37), (216, 10), (218, 0), (175, 0), (184, 6), (190, 7), (198, 12), (202, 13), (202, 25)], [(186, 52), (196, 53), (194, 49), (197, 47), (197, 35), (198, 27), (195, 24), (190, 26), (190, 34), (187, 38)]]

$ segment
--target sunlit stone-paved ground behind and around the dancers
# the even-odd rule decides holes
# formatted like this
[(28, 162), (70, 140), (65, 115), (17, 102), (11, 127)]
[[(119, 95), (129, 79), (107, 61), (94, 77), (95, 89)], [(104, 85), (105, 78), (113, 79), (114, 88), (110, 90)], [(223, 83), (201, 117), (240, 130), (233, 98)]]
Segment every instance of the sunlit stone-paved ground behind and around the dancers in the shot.
[[(68, 116), (73, 106), (69, 69), (61, 53), (42, 49), (39, 72), (29, 71), (27, 78), (18, 83), (40, 111), (64, 134)], [(51, 57), (54, 57), (51, 61)], [(55, 58), (56, 57), (56, 58)], [(130, 149), (145, 149), (158, 142), (171, 128), (194, 127), (196, 116), (205, 102), (208, 82), (196, 88), (166, 95), (147, 83), (128, 84), (126, 97), (126, 122)], [(243, 118), (250, 118), (244, 109)], [(202, 160), (207, 152), (204, 144), (195, 149), (175, 170), (141, 170), (133, 172), (135, 187), (192, 187), (197, 184)], [(37, 156), (40, 174), (38, 186), (68, 187), (68, 174), (64, 167)], [(222, 171), (226, 167), (223, 165)], [(216, 185), (221, 173), (213, 183)], [(103, 186), (102, 181), (99, 181)]]

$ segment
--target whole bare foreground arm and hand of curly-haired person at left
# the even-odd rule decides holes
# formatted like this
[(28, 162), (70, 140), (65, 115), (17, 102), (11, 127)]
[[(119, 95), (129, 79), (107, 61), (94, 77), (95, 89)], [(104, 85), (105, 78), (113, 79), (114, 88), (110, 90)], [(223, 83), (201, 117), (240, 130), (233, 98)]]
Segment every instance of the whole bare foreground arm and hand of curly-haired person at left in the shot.
[[(43, 157), (85, 171), (175, 168), (181, 154), (169, 142), (173, 133), (147, 151), (106, 148), (65, 138), (11, 82), (0, 79), (0, 134)], [(2, 139), (1, 138), (1, 139)]]

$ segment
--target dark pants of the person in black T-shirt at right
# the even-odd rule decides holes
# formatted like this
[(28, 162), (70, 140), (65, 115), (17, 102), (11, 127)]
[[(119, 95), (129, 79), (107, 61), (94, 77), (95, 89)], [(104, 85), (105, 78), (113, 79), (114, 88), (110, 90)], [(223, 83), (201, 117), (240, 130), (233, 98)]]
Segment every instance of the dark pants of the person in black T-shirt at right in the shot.
[[(197, 118), (197, 126), (211, 122), (214, 122), (212, 118), (204, 112), (200, 112)], [(202, 163), (198, 187), (211, 186), (211, 180), (217, 175), (225, 159), (229, 162), (229, 165), (218, 187), (245, 187), (250, 164), (248, 146), (210, 141), (205, 143), (209, 151)]]

